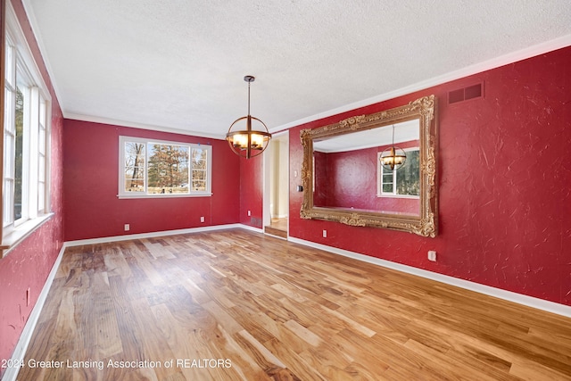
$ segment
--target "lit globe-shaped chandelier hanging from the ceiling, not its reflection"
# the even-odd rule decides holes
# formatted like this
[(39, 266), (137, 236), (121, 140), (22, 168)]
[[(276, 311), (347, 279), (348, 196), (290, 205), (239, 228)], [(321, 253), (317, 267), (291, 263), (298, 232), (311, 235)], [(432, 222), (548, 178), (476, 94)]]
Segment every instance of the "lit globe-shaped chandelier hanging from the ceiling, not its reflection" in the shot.
[[(248, 82), (248, 115), (236, 119), (228, 128), (228, 134), (226, 134), (226, 140), (228, 140), (228, 145), (230, 145), (232, 151), (246, 159), (258, 156), (264, 152), (268, 146), (269, 139), (271, 139), (271, 134), (264, 122), (250, 115), (250, 84), (254, 79), (252, 76), (244, 77), (244, 81)], [(242, 120), (246, 121), (246, 129), (233, 130), (232, 128), (235, 128), (236, 123)], [(261, 124), (261, 126), (258, 129), (252, 128), (252, 121), (259, 122), (258, 124)]]

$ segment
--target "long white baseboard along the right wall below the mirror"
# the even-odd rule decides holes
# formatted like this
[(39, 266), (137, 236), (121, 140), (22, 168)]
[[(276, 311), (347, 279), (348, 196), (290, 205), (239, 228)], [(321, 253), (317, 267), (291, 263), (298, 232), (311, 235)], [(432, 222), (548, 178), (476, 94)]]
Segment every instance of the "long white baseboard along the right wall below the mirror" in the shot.
[(523, 304), (525, 306), (532, 307), (538, 310), (548, 311), (556, 313), (558, 315), (565, 316), (567, 318), (571, 318), (571, 306), (567, 306), (565, 304), (549, 302), (543, 299), (535, 298), (533, 296), (517, 294), (511, 291), (502, 290), (501, 288), (481, 285), (479, 283), (471, 282), (465, 279), (460, 279), (458, 277), (450, 277), (448, 275), (439, 274), (433, 271), (428, 271), (426, 269), (418, 269), (412, 266), (403, 265), (401, 263), (396, 263), (393, 261), (381, 260), (379, 258), (371, 257), (361, 253), (354, 253), (348, 250), (337, 249), (336, 247), (327, 246), (325, 244), (316, 244), (315, 242), (306, 241), (292, 236), (288, 238), (288, 241), (293, 242), (295, 244), (303, 244), (305, 246), (310, 246), (315, 249), (323, 250), (329, 253), (343, 255), (345, 257), (353, 258), (359, 261), (365, 261), (377, 266), (385, 267), (387, 269), (396, 269), (398, 271), (416, 275), (418, 277), (426, 277), (428, 279), (445, 283), (447, 285), (465, 288), (470, 291), (476, 291), (476, 293), (490, 295), (509, 302), (516, 302), (518, 304)]

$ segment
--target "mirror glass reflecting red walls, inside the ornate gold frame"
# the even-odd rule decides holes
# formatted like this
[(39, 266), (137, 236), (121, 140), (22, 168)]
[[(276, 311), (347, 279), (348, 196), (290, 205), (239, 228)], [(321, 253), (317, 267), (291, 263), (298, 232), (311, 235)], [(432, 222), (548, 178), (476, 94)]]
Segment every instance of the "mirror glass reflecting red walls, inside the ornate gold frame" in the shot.
[(420, 214), (419, 123), (394, 124), (394, 145), (407, 159), (398, 170), (381, 165), (393, 146), (393, 125), (313, 142), (313, 204), (418, 216)]

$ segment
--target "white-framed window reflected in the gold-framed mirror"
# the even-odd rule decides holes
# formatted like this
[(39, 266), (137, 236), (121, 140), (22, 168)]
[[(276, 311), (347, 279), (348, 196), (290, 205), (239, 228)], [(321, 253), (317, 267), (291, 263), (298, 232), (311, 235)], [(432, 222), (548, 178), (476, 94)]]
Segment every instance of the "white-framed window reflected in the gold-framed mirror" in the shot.
[(419, 149), (405, 150), (407, 160), (399, 170), (386, 170), (377, 155), (378, 181), (377, 196), (410, 196), (420, 195), (420, 161)]

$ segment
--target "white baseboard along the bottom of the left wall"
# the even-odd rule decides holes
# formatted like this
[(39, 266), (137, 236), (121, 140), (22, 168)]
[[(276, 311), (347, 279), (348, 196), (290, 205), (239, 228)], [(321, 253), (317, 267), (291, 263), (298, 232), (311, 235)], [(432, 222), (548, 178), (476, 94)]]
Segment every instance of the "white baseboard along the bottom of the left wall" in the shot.
[[(36, 329), (37, 320), (39, 319), (39, 315), (44, 308), (44, 303), (46, 303), (47, 294), (50, 292), (50, 288), (52, 287), (52, 283), (54, 283), (55, 274), (57, 270), (60, 268), (60, 263), (62, 262), (63, 252), (65, 251), (65, 244), (62, 245), (62, 249), (58, 254), (54, 266), (50, 271), (49, 275), (47, 276), (46, 283), (42, 287), (42, 292), (37, 297), (36, 305), (32, 309), (31, 313), (29, 314), (28, 321), (26, 321), (26, 325), (21, 332), (20, 339), (18, 339), (18, 343), (14, 348), (14, 352), (12, 352), (12, 364), (19, 364), (21, 361), (24, 360), (24, 356), (26, 351), (28, 350), (29, 341), (32, 338), (32, 334), (34, 333), (34, 329)], [(7, 368), (4, 372), (4, 376), (2, 377), (2, 381), (16, 381), (16, 377), (18, 377), (18, 372), (20, 371), (20, 367), (15, 368)]]

